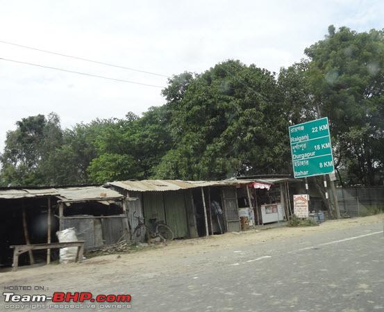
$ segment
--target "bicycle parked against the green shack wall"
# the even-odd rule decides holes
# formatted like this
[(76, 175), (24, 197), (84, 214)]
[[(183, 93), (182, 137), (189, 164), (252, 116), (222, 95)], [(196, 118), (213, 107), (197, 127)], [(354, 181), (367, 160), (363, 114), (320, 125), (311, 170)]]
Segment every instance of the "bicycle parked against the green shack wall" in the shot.
[(161, 240), (173, 240), (174, 232), (163, 221), (156, 222), (156, 219), (149, 219), (151, 227), (148, 227), (144, 223), (144, 217), (137, 217), (136, 211), (133, 213), (133, 217), (137, 219), (137, 227), (133, 231), (133, 236), (140, 237), (142, 234), (147, 234), (148, 238), (160, 237)]

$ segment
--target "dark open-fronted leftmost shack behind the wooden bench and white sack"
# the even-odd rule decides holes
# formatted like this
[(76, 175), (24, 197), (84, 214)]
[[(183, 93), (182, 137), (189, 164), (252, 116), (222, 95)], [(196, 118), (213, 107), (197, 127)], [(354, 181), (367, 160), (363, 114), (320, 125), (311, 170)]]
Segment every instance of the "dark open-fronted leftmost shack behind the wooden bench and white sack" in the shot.
[[(56, 243), (56, 231), (74, 227), (85, 249), (116, 243), (126, 231), (124, 196), (99, 186), (0, 189), (0, 265), (12, 263), (11, 245)], [(20, 255), (20, 263), (57, 258), (51, 250)]]

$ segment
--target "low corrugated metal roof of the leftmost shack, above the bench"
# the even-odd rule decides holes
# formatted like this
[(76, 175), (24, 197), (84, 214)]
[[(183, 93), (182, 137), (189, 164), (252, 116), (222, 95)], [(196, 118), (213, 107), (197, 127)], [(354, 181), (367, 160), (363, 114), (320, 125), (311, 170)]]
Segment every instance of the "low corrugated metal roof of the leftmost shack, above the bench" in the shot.
[(124, 197), (108, 188), (101, 186), (84, 186), (76, 188), (40, 188), (29, 189), (23, 188), (0, 190), (0, 199), (18, 199), (18, 198), (30, 198), (30, 197), (47, 197), (56, 196), (64, 200), (87, 200), (87, 199), (119, 199)]

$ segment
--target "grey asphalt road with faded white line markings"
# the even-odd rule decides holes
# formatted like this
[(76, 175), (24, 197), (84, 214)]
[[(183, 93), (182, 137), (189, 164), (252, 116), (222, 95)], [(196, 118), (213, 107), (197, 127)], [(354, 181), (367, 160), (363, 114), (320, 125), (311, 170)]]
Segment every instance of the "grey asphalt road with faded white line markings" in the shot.
[(383, 223), (148, 261), (92, 283), (68, 275), (63, 288), (131, 294), (119, 311), (384, 311)]

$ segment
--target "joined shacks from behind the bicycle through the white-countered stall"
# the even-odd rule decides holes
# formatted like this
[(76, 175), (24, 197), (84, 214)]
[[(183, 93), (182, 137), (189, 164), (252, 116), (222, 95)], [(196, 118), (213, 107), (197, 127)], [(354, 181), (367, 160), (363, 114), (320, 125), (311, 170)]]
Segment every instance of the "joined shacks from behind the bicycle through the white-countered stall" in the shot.
[(108, 182), (105, 187), (128, 199), (137, 198), (128, 202), (131, 234), (141, 217), (147, 225), (153, 220), (165, 222), (175, 238), (197, 238), (287, 220), (292, 215), (290, 181), (294, 180), (128, 180)]

